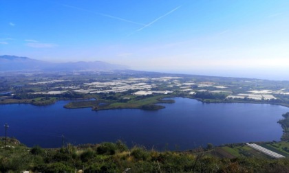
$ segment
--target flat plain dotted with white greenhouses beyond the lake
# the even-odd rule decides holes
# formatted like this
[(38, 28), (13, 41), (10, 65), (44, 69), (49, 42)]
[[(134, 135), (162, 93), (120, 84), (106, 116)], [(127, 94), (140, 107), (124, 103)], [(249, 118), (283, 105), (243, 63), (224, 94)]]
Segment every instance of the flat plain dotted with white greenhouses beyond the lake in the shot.
[[(289, 106), (289, 82), (248, 78), (193, 76), (145, 71), (72, 71), (0, 73), (0, 104), (54, 104), (65, 108), (164, 108), (165, 97), (202, 102), (246, 102)], [(94, 100), (94, 101), (92, 101)], [(173, 102), (173, 101), (165, 101)]]

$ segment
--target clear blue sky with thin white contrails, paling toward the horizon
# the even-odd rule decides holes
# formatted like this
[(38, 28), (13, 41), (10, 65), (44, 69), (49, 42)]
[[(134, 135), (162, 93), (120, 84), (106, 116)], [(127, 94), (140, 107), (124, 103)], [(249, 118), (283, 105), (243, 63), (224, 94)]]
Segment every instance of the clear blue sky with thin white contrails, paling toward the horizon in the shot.
[(1, 0), (0, 6), (1, 55), (215, 76), (289, 73), (287, 0)]

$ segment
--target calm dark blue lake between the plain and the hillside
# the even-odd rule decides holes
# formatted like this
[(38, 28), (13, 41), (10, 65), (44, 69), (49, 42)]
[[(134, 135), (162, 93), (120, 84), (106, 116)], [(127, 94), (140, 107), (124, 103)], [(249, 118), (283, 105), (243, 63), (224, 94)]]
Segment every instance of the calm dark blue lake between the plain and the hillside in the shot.
[[(50, 106), (0, 105), (0, 124), (8, 123), (8, 136), (27, 146), (44, 148), (65, 142), (100, 143), (121, 139), (128, 146), (187, 150), (206, 143), (279, 141), (282, 129), (277, 121), (289, 108), (269, 104), (203, 104), (174, 98), (158, 111), (118, 109), (92, 111), (66, 109), (68, 101)], [(2, 126), (2, 125), (1, 125)], [(0, 128), (0, 136), (4, 136)]]

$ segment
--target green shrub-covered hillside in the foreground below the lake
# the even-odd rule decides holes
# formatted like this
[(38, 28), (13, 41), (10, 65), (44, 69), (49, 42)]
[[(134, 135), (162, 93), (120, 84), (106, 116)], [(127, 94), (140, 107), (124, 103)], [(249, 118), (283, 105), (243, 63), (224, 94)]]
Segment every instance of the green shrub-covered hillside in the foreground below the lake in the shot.
[(129, 149), (121, 141), (56, 149), (27, 148), (16, 139), (8, 139), (4, 148), (3, 141), (0, 172), (289, 172), (289, 159), (261, 154), (221, 159), (212, 154), (219, 149), (211, 145), (188, 152), (158, 152)]

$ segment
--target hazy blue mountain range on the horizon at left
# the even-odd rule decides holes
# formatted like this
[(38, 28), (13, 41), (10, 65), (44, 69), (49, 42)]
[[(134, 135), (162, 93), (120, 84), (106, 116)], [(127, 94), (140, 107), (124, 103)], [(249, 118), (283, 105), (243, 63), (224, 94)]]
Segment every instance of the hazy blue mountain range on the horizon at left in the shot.
[(83, 71), (127, 69), (102, 61), (52, 63), (20, 56), (0, 56), (0, 71)]

